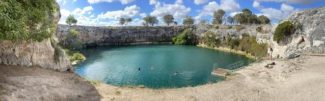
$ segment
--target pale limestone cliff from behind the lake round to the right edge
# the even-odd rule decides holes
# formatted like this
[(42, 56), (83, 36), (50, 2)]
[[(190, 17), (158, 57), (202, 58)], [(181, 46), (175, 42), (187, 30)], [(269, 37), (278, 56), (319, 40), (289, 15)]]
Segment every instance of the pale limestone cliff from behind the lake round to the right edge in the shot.
[[(171, 42), (173, 36), (184, 29), (191, 28), (194, 34), (193, 43), (200, 43), (200, 37), (210, 30), (215, 34), (241, 37), (248, 33), (256, 36), (259, 43), (268, 43), (273, 47), (273, 57), (285, 58), (292, 51), (324, 53), (325, 50), (325, 7), (307, 9), (292, 13), (286, 20), (301, 23), (297, 29), (286, 37), (285, 44), (273, 41), (273, 33), (278, 24), (272, 25), (191, 25), (191, 26), (138, 26), (138, 27), (91, 27), (58, 25), (56, 36), (64, 40), (69, 30), (77, 30), (83, 44), (127, 44), (134, 42)], [(285, 20), (284, 20), (285, 21)], [(256, 31), (262, 26), (260, 32)], [(292, 48), (295, 49), (292, 49)]]

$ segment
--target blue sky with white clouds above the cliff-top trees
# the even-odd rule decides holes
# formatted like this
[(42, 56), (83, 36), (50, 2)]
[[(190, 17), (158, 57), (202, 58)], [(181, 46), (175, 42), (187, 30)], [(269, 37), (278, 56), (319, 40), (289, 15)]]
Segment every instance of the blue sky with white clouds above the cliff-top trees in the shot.
[[(171, 14), (181, 24), (186, 16), (212, 21), (218, 9), (234, 16), (248, 8), (257, 16), (265, 15), (272, 23), (285, 19), (292, 12), (325, 6), (325, 0), (57, 0), (60, 5), (60, 24), (65, 24), (69, 14), (78, 20), (77, 25), (120, 26), (118, 20), (131, 18), (127, 26), (141, 26), (146, 15), (155, 16), (158, 25), (165, 25), (162, 16)], [(196, 23), (197, 23), (196, 22)]]

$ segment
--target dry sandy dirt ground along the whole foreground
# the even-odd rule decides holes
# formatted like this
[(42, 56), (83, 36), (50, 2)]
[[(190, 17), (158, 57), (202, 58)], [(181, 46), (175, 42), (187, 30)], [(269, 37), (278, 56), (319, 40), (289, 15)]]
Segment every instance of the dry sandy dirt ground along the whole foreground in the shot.
[[(91, 85), (74, 73), (0, 66), (2, 100), (325, 100), (325, 57), (263, 60), (226, 81), (177, 89)], [(43, 99), (42, 99), (43, 98)], [(44, 99), (47, 98), (47, 99)], [(1, 100), (0, 99), (0, 100)]]

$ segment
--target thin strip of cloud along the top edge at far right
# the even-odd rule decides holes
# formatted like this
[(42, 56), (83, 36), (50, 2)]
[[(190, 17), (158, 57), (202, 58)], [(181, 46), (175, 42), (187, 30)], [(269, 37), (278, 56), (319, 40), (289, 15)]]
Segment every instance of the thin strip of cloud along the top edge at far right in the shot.
[(311, 4), (314, 2), (321, 2), (323, 0), (257, 0), (258, 2), (276, 2), (286, 4)]

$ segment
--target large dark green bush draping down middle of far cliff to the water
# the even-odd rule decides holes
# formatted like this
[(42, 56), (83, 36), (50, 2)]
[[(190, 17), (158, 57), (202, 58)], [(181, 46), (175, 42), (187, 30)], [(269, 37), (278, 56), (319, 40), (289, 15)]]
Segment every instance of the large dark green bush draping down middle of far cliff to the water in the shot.
[(181, 34), (177, 35), (176, 37), (173, 37), (173, 42), (175, 44), (190, 44), (192, 39), (192, 33), (191, 29), (187, 28), (185, 29)]

